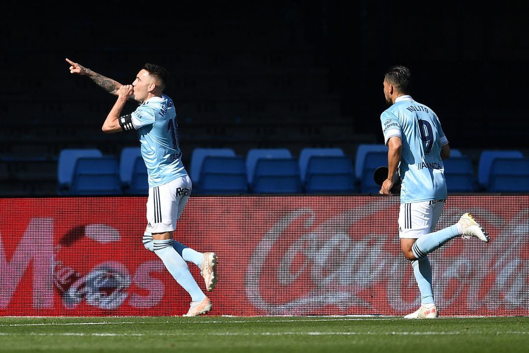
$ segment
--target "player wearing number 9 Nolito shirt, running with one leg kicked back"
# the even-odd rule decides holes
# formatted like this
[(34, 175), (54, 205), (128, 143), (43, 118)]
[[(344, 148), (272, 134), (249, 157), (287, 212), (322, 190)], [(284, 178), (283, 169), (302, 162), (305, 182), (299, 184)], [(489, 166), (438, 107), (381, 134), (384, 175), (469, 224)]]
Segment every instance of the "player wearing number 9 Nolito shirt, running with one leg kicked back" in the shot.
[(399, 171), (402, 180), (398, 217), (400, 247), (411, 261), (421, 291), (421, 308), (407, 319), (439, 316), (432, 293), (432, 268), (427, 254), (461, 235), (489, 241), (486, 231), (464, 213), (457, 224), (433, 232), (446, 199), (443, 160), (450, 157), (448, 140), (433, 110), (411, 96), (411, 73), (391, 67), (384, 76), (384, 96), (390, 106), (380, 115), (388, 151), (388, 178), (379, 193), (390, 195)]

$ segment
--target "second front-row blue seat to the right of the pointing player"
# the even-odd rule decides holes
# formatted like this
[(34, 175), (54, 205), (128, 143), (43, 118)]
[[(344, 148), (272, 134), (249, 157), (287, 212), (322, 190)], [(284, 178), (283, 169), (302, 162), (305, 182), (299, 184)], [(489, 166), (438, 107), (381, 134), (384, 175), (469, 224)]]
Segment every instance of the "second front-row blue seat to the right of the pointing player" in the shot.
[(261, 158), (252, 178), (254, 193), (300, 193), (302, 184), (295, 158)]

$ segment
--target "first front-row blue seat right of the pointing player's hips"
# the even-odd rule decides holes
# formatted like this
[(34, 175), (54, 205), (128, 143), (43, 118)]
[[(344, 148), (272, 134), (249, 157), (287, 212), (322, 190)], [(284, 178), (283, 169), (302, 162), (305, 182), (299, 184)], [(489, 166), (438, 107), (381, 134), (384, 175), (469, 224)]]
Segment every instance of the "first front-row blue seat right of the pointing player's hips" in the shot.
[(205, 157), (197, 190), (203, 194), (248, 193), (244, 157)]

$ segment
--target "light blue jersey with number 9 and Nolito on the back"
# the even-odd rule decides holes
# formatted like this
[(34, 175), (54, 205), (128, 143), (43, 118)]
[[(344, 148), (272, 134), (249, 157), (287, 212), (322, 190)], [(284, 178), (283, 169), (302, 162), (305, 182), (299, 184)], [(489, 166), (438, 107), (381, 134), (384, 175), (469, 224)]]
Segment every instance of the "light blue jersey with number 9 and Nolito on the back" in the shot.
[(380, 115), (386, 146), (402, 139), (400, 203), (446, 199), (441, 146), (448, 143), (432, 109), (400, 96)]

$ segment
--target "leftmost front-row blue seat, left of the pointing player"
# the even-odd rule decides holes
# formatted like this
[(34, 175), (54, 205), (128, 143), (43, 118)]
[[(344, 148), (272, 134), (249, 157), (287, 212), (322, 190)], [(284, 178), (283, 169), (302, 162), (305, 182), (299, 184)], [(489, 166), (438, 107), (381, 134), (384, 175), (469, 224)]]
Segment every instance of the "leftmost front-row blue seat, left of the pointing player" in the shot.
[(121, 194), (119, 166), (115, 157), (81, 157), (74, 169), (72, 190), (76, 195)]

